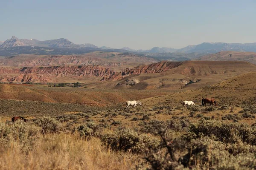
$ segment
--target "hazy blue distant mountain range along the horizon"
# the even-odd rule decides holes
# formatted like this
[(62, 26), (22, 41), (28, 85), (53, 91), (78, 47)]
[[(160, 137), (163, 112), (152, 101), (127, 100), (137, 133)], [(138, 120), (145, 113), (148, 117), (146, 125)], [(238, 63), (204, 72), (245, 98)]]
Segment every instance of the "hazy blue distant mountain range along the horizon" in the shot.
[[(22, 48), (18, 48), (21, 47)], [(85, 51), (114, 51), (114, 52), (132, 52), (135, 54), (145, 54), (148, 56), (176, 56), (180, 54), (213, 54), (220, 51), (240, 51), (240, 52), (256, 52), (256, 43), (224, 43), (224, 42), (204, 42), (199, 45), (189, 45), (184, 48), (175, 49), (175, 48), (159, 48), (154, 47), (148, 50), (134, 50), (129, 47), (124, 47), (121, 49), (111, 48), (107, 46), (102, 46), (98, 48), (93, 44), (74, 44), (73, 42), (60, 38), (57, 40), (45, 40), (39, 41), (35, 39), (18, 39), (15, 36), (12, 36), (11, 39), (6, 41), (0, 41), (0, 55), (9, 55), (9, 54), (22, 54), (22, 51), (30, 51), (28, 54), (36, 54), (35, 51), (44, 51), (43, 53), (51, 54), (81, 54), (80, 52)], [(32, 50), (32, 51), (31, 51)], [(35, 51), (34, 51), (35, 50)], [(33, 52), (34, 51), (34, 52)], [(38, 54), (41, 54), (39, 52)], [(25, 53), (27, 54), (27, 53)], [(156, 55), (157, 54), (157, 55)], [(194, 55), (194, 54), (193, 54)], [(193, 56), (192, 55), (192, 56)], [(198, 55), (197, 55), (198, 56)]]

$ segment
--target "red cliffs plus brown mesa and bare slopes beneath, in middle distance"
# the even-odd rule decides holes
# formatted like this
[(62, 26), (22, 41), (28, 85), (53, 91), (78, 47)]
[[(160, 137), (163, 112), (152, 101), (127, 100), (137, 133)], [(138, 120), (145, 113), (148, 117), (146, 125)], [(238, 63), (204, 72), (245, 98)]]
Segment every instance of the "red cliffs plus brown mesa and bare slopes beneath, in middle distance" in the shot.
[(204, 87), (253, 71), (256, 65), (242, 61), (162, 61), (122, 71), (92, 65), (2, 67), (0, 81), (43, 84), (78, 81), (87, 88), (177, 90)]

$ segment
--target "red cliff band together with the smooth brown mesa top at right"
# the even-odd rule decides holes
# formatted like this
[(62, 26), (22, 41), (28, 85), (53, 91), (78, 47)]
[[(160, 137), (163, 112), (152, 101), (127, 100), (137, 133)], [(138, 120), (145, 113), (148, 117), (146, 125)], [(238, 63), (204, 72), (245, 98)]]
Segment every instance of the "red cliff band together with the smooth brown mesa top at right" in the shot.
[[(234, 70), (236, 68), (236, 71)], [(157, 62), (149, 65), (139, 65), (135, 68), (125, 68), (114, 71), (111, 68), (93, 65), (61, 65), (51, 67), (0, 67), (0, 82), (54, 82), (53, 79), (80, 79), (81, 77), (100, 77), (101, 80), (122, 79), (131, 74), (154, 74), (174, 69), (177, 74), (185, 76), (209, 76), (212, 74), (243, 73), (255, 71), (256, 66), (248, 62), (211, 62), (211, 61), (184, 61), (184, 62)]]

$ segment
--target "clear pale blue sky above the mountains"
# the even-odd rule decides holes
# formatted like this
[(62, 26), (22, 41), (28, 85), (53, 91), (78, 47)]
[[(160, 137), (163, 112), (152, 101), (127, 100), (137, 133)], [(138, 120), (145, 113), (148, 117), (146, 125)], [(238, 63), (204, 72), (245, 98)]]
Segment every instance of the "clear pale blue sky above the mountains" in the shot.
[(256, 0), (0, 0), (0, 41), (112, 48), (256, 42)]

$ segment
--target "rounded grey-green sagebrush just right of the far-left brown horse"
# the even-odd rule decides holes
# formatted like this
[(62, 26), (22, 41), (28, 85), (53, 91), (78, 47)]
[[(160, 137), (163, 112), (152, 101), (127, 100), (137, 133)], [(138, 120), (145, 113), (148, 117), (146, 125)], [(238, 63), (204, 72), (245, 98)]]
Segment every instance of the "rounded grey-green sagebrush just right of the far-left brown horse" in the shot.
[(42, 127), (41, 132), (43, 134), (58, 132), (60, 128), (60, 122), (49, 116), (43, 116), (41, 118), (35, 119), (34, 122), (36, 125)]

